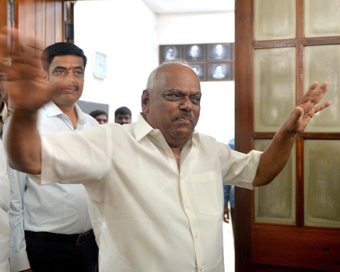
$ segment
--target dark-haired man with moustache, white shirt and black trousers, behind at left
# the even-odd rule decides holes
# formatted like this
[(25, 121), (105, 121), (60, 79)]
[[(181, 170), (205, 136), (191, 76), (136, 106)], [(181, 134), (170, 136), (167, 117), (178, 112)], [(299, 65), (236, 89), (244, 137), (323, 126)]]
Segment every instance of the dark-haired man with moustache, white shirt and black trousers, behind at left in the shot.
[[(38, 130), (74, 133), (98, 125), (76, 104), (84, 86), (87, 59), (83, 50), (61, 42), (47, 47), (42, 56), (46, 82), (57, 84), (58, 88), (52, 101), (38, 111)], [(6, 122), (4, 138), (7, 138), (8, 125)], [(84, 186), (39, 186), (29, 175), (11, 168), (8, 175), (11, 271), (98, 271), (98, 247)]]

